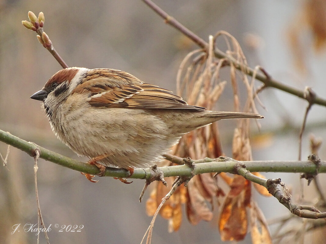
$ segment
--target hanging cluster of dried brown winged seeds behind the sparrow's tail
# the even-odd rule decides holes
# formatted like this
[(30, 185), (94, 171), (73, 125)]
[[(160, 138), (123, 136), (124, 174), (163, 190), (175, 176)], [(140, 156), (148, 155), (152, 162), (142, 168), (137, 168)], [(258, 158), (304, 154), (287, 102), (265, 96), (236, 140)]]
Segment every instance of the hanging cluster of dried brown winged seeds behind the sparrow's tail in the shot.
[[(233, 56), (240, 63), (246, 63), (244, 54), (236, 39), (226, 32), (219, 32), (217, 36), (223, 36), (230, 50), (227, 54)], [(219, 71), (223, 61), (214, 56), (214, 39), (209, 38), (207, 52), (196, 50), (189, 53), (182, 64), (177, 75), (177, 94), (185, 95), (185, 100), (192, 105), (203, 106), (208, 110), (214, 110), (214, 105), (223, 92), (226, 82), (220, 82)], [(196, 55), (196, 57), (195, 57)], [(190, 64), (189, 64), (190, 63)], [(187, 65), (188, 64), (188, 65)], [(244, 80), (248, 92), (248, 101), (245, 108), (254, 111), (252, 101), (253, 83), (249, 84), (245, 75), (237, 73), (234, 66), (230, 67), (230, 77), (234, 93), (235, 110), (240, 110), (238, 98), (237, 74)], [(238, 160), (250, 160), (251, 148), (248, 139), (248, 123), (239, 123), (240, 128), (236, 131), (234, 139), (234, 152)], [(190, 156), (192, 159), (204, 158), (206, 156), (216, 158), (222, 155), (217, 124), (214, 123), (185, 135), (175, 147), (174, 155), (180, 157)], [(244, 159), (247, 158), (248, 159)], [(225, 173), (220, 177), (230, 185), (231, 190), (224, 204), (220, 218), (220, 230), (226, 239), (241, 239), (246, 233), (247, 219), (246, 207), (250, 205), (251, 186), (248, 181), (240, 176), (231, 178)], [(170, 185), (170, 184), (169, 184)], [(158, 206), (162, 197), (167, 194), (168, 189), (162, 184), (156, 185), (156, 193), (151, 194), (146, 207), (152, 213), (154, 206)], [(200, 220), (210, 221), (213, 217), (211, 209), (215, 197), (224, 196), (224, 192), (217, 186), (217, 180), (212, 174), (195, 176), (188, 187), (180, 187), (162, 207), (160, 214), (169, 219), (169, 231), (176, 231), (181, 224), (181, 203), (186, 203), (186, 214), (191, 224), (198, 224)], [(217, 200), (217, 199), (216, 199)], [(209, 206), (211, 203), (212, 207)], [(230, 231), (228, 228), (231, 228)]]

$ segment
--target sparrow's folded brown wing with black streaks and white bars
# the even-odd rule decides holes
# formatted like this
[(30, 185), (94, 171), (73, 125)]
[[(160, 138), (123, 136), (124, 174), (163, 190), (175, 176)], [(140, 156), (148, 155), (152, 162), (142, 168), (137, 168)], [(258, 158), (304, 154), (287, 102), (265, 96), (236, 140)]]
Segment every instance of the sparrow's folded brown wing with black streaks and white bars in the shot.
[[(112, 77), (112, 75), (95, 77), (83, 82), (78, 90), (73, 92), (87, 92), (87, 102), (97, 108), (192, 109), (198, 111), (205, 109), (188, 105), (172, 91), (142, 83), (132, 75), (121, 77), (121, 75), (118, 77)], [(119, 82), (116, 82), (117, 78), (119, 78)]]

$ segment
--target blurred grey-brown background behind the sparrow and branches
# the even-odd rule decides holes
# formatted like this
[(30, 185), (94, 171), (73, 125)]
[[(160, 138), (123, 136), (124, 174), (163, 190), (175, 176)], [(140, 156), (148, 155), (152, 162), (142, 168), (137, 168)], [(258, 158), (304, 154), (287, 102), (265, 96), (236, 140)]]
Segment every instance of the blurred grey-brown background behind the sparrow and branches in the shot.
[[(301, 90), (310, 86), (326, 98), (324, 0), (156, 0), (155, 3), (206, 41), (210, 34), (220, 30), (229, 32), (239, 41), (251, 67), (261, 65), (282, 83)], [(36, 34), (22, 26), (21, 21), (28, 20), (29, 10), (44, 13), (44, 31), (68, 66), (120, 69), (173, 91), (181, 61), (198, 48), (164, 24), (142, 1), (0, 1), (0, 129), (81, 161), (87, 159), (78, 158), (56, 139), (40, 103), (29, 99), (61, 69), (38, 43)], [(219, 48), (225, 50), (226, 46), (221, 42)], [(257, 81), (256, 85), (261, 84)], [(226, 94), (231, 92), (228, 82)], [(267, 111), (258, 108), (265, 119), (260, 121), (261, 132), (254, 123), (252, 132), (265, 138), (254, 143), (253, 159), (297, 160), (299, 130), (307, 102), (275, 89), (262, 91), (260, 99)], [(216, 109), (232, 111), (233, 98), (222, 96)], [(313, 106), (303, 135), (303, 160), (310, 154), (310, 134), (326, 138), (325, 121), (325, 107)], [(236, 124), (218, 123), (223, 128), (224, 153), (231, 156)], [(323, 143), (319, 155), (322, 160), (326, 157), (325, 149)], [(0, 142), (3, 156), (6, 151), (7, 145)], [(14, 224), (37, 223), (33, 165), (33, 158), (11, 147), (8, 166), (0, 169), (0, 243), (36, 242), (35, 233), (21, 229), (10, 234)], [(93, 184), (79, 172), (43, 159), (38, 166), (40, 206), (45, 224), (52, 224), (48, 233), (50, 243), (140, 243), (151, 221), (145, 213), (145, 201), (138, 201), (144, 181), (126, 185), (107, 177)], [(282, 178), (292, 190), (293, 202), (299, 200), (299, 174), (265, 175)], [(304, 186), (304, 193), (305, 199), (314, 204), (317, 195), (313, 186)], [(149, 191), (144, 200), (148, 195)], [(254, 197), (267, 219), (288, 214), (276, 199), (255, 193)], [(84, 227), (78, 233), (58, 232), (54, 224)], [(201, 222), (192, 226), (184, 218), (178, 232), (168, 233), (167, 221), (158, 217), (153, 242), (220, 243), (218, 229), (212, 225)], [(44, 236), (40, 238), (45, 243)], [(317, 243), (318, 237), (314, 238), (307, 243)], [(250, 235), (241, 243), (251, 243)]]

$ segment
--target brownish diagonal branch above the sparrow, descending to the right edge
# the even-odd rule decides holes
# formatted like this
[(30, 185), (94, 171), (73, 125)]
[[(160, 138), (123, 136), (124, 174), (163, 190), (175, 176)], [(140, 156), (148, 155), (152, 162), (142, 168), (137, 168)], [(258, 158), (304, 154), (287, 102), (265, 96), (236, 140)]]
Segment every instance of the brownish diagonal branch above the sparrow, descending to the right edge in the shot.
[[(203, 39), (201, 39), (198, 35), (194, 34), (190, 30), (188, 30), (185, 26), (183, 26), (180, 22), (175, 20), (172, 16), (170, 16), (169, 14), (164, 12), (160, 7), (158, 7), (152, 1), (150, 1), (150, 0), (142, 0), (142, 1), (146, 5), (148, 5), (150, 8), (152, 8), (159, 16), (161, 16), (164, 19), (165, 23), (176, 28), (178, 31), (180, 31), (182, 34), (187, 36), (198, 46), (200, 46), (204, 49), (208, 47), (207, 42), (205, 42)], [(308, 100), (308, 98), (305, 96), (305, 92), (303, 90), (299, 90), (297, 88), (293, 88), (288, 85), (282, 84), (281, 82), (271, 78), (266, 72), (256, 73), (254, 71), (254, 69), (244, 65), (243, 63), (238, 62), (233, 57), (230, 57), (229, 55), (225, 54), (218, 48), (215, 48), (214, 53), (217, 58), (228, 60), (229, 62), (226, 62), (226, 64), (230, 65), (230, 63), (232, 63), (232, 65), (236, 69), (244, 72), (245, 74), (250, 75), (250, 76), (253, 76), (254, 74), (256, 74), (256, 76), (255, 76), (256, 79), (261, 81), (262, 83), (264, 83), (264, 87), (266, 87), (266, 88), (267, 87), (276, 88), (278, 90), (285, 91), (287, 93), (295, 95), (299, 98), (305, 99), (311, 104), (318, 104), (318, 105), (322, 105), (322, 106), (326, 107), (326, 100), (318, 97), (317, 95), (312, 100)]]

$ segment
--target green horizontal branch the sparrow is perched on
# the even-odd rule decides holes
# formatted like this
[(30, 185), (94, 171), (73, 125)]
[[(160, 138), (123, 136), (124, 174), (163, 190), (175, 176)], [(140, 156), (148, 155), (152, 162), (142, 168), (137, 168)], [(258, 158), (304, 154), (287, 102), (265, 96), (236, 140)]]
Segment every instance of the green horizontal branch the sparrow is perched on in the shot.
[[(71, 159), (66, 156), (62, 156), (55, 152), (52, 152), (46, 148), (37, 146), (33, 142), (26, 142), (16, 136), (11, 135), (8, 132), (0, 130), (0, 141), (5, 142), (8, 145), (16, 147), (28, 155), (34, 157), (35, 151), (38, 149), (40, 152), (39, 157), (47, 161), (59, 164), (69, 169), (77, 170), (88, 174), (98, 174), (99, 169), (96, 166), (85, 164), (83, 162)], [(178, 157), (174, 157), (175, 160)], [(179, 158), (180, 159), (180, 158)], [(182, 159), (183, 160), (183, 159)], [(170, 176), (186, 176), (191, 177), (192, 174), (203, 174), (213, 172), (230, 172), (234, 173), (234, 165), (237, 161), (232, 159), (225, 160), (225, 158), (205, 158), (201, 160), (193, 160), (196, 164), (195, 169), (189, 168), (187, 165), (176, 165), (169, 167), (161, 167), (160, 169), (164, 173), (164, 177)], [(319, 166), (316, 166), (311, 161), (243, 161), (246, 165), (246, 169), (252, 172), (289, 172), (289, 173), (326, 173), (326, 162), (321, 161)], [(129, 171), (120, 168), (107, 167), (104, 176), (110, 177), (128, 177), (133, 179), (150, 179), (153, 177), (151, 169), (135, 169), (134, 173), (130, 175)]]

